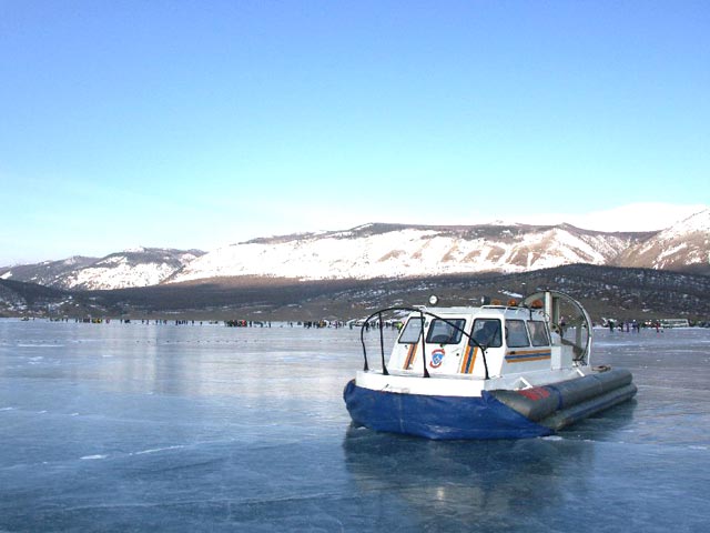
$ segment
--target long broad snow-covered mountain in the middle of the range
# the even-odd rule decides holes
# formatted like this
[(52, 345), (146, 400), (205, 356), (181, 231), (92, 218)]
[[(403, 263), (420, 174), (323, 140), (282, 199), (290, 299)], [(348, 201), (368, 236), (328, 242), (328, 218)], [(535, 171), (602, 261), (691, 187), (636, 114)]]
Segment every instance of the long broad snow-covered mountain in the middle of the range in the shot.
[(266, 275), (302, 280), (524, 272), (570, 263), (610, 264), (653, 233), (602, 233), (569, 224), (412, 227), (257, 239), (204, 254), (170, 281)]

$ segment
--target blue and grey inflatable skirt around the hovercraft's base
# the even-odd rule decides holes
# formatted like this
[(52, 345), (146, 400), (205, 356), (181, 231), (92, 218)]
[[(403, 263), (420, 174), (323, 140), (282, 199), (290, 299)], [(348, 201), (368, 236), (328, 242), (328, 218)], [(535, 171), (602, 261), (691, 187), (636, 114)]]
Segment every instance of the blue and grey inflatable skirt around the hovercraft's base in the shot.
[(520, 391), (483, 391), (480, 396), (376, 391), (352, 380), (343, 396), (353, 422), (375, 431), (435, 440), (525, 439), (552, 434), (636, 391), (630, 372), (619, 369)]

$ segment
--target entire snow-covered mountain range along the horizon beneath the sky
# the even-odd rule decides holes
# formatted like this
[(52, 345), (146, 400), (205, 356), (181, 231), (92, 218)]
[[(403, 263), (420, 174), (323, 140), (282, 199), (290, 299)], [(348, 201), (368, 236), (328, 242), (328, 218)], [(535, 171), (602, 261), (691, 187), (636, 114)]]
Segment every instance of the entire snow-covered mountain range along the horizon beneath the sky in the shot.
[(225, 279), (388, 280), (523, 273), (568, 264), (710, 275), (710, 209), (657, 232), (570, 224), (405, 225), (254, 239), (209, 252), (140, 248), (0, 268), (0, 279), (61, 290), (116, 290)]

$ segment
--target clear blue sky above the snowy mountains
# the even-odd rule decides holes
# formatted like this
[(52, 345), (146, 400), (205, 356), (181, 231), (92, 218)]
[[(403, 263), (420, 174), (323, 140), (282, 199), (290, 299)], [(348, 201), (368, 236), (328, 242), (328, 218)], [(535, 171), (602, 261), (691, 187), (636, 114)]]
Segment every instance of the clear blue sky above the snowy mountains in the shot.
[(709, 177), (707, 0), (0, 0), (0, 265), (375, 221), (661, 229)]

